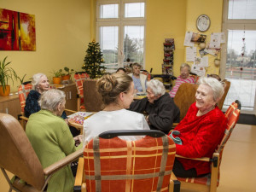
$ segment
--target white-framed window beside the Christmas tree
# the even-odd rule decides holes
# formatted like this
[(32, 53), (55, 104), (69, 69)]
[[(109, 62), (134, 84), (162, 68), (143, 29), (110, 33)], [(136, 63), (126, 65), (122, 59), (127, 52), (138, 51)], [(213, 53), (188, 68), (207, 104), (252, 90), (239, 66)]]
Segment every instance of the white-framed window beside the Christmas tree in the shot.
[(145, 2), (99, 0), (96, 7), (97, 41), (107, 72), (131, 62), (144, 66)]

